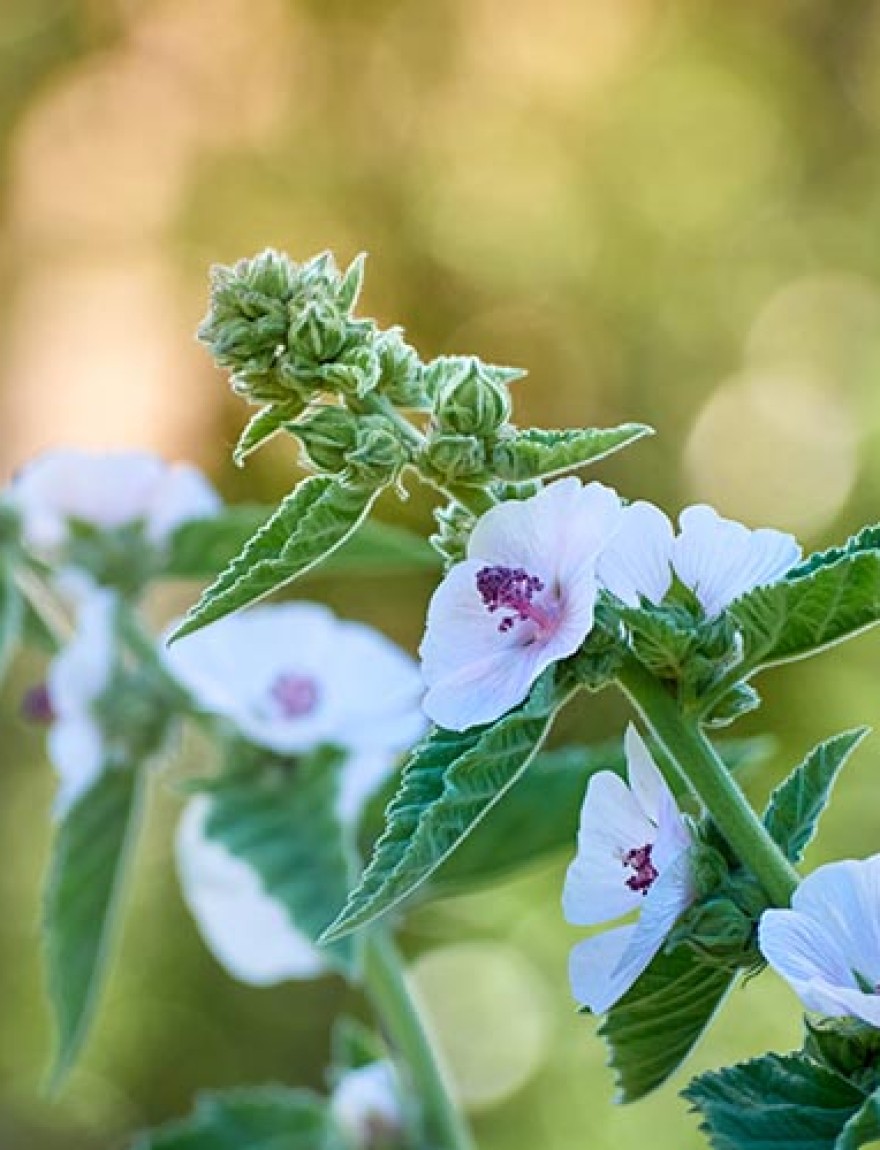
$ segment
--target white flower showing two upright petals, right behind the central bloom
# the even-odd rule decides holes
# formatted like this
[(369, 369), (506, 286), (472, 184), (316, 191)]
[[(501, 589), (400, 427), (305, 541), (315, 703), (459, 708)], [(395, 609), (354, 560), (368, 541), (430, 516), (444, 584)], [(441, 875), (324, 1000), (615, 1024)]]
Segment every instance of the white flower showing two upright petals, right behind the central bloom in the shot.
[(598, 562), (602, 585), (630, 607), (642, 598), (659, 604), (674, 570), (713, 619), (747, 591), (782, 578), (801, 559), (793, 536), (771, 528), (751, 531), (704, 504), (687, 507), (679, 524), (674, 536), (652, 504), (626, 507), (620, 530)]

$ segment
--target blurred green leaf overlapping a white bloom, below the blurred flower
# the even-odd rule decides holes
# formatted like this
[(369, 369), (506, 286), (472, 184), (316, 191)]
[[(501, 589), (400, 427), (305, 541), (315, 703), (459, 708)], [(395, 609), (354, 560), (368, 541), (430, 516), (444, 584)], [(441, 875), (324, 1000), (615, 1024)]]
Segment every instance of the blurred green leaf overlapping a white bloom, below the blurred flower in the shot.
[[(315, 754), (223, 774), (207, 788), (207, 836), (246, 862), (313, 941), (339, 913), (354, 879), (352, 849), (336, 813), (338, 775), (338, 759)], [(353, 940), (324, 954), (344, 974), (354, 973)]]

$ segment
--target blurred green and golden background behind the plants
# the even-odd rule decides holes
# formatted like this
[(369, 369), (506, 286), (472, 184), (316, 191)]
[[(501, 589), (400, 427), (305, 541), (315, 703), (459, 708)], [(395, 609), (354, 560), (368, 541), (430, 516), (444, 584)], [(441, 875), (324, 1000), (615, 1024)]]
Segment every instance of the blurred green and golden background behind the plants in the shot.
[[(209, 263), (331, 247), (372, 253), (365, 310), (426, 358), (528, 368), (521, 423), (652, 423), (597, 473), (628, 496), (707, 499), (808, 546), (880, 519), (880, 3), (2, 0), (0, 162), (6, 475), (51, 444), (146, 445), (232, 500), (280, 496), (292, 450), (232, 469), (246, 412), (192, 332)], [(383, 513), (421, 529), (428, 506)], [(414, 650), (431, 588), (404, 582), (311, 593)], [(880, 715), (878, 644), (765, 680), (740, 728), (780, 736), (756, 798)], [(213, 965), (158, 787), (94, 1040), (41, 1096), (53, 781), (17, 719), (40, 672), (18, 669), (2, 720), (0, 1148), (122, 1147), (202, 1087), (317, 1083), (329, 1020), (357, 1000)], [(623, 719), (602, 696), (559, 737)], [(880, 849), (879, 766), (868, 743), (811, 862)], [(405, 938), (480, 1144), (699, 1147), (673, 1087), (611, 1105), (568, 996), (565, 864), (421, 911)], [(736, 991), (690, 1068), (794, 1044), (794, 1007), (773, 975)]]

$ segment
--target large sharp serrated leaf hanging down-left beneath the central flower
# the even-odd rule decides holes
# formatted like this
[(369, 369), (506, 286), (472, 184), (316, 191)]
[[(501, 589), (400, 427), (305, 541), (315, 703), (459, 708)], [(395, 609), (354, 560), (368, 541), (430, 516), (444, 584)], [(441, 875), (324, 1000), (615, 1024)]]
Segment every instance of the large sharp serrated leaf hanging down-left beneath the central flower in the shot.
[(384, 914), (434, 874), (520, 779), (569, 693), (557, 689), (551, 668), (492, 726), (435, 729), (415, 749), (373, 859), (327, 940)]

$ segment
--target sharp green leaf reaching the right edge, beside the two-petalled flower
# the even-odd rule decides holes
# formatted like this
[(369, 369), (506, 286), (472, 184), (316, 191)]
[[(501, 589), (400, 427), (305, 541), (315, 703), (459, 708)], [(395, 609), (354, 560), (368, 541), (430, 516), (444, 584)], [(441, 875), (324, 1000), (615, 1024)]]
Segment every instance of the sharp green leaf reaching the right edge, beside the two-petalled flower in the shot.
[(743, 642), (741, 678), (814, 654), (880, 622), (880, 551), (858, 550), (859, 540), (873, 537), (863, 531), (848, 544), (851, 550), (813, 555), (789, 578), (732, 604)]

